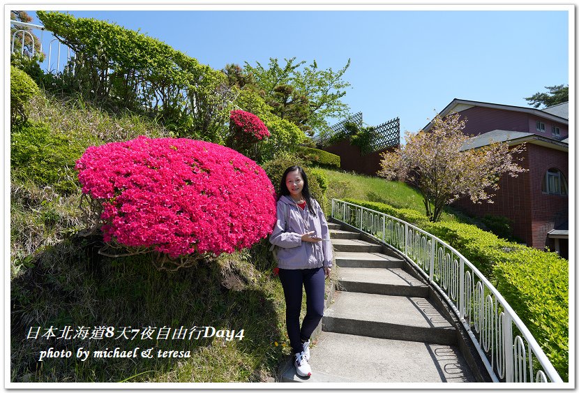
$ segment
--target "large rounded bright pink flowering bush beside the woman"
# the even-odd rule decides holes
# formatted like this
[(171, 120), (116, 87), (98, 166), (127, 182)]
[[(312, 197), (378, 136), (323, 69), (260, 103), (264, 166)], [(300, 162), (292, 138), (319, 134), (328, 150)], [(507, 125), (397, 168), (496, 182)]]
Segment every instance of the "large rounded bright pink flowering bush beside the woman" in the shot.
[(264, 170), (218, 144), (141, 136), (89, 147), (76, 169), (82, 192), (103, 202), (105, 242), (219, 255), (253, 245), (276, 221)]

